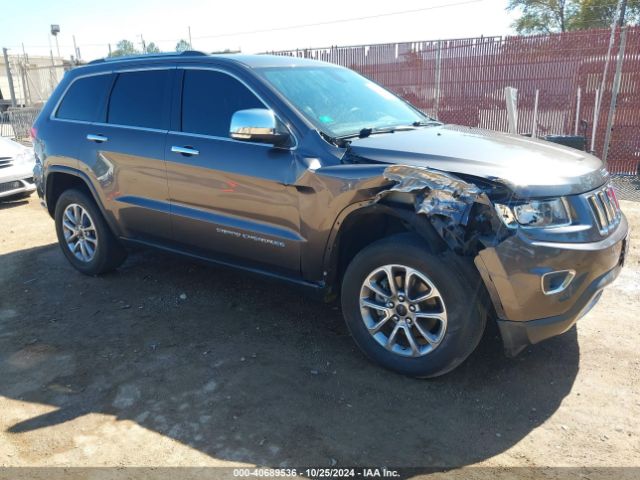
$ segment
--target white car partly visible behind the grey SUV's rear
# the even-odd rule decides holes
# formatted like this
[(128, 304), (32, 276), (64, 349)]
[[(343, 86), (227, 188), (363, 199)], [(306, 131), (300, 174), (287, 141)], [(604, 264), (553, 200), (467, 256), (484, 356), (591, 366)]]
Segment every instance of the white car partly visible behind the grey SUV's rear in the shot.
[(36, 189), (33, 183), (33, 148), (0, 137), (0, 200), (26, 198)]

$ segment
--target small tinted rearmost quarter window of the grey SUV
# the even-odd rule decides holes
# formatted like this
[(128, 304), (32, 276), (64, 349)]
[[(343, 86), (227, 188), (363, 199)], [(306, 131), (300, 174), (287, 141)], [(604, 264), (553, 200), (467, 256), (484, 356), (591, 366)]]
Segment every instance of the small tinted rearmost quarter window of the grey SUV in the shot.
[(56, 112), (57, 118), (95, 122), (104, 104), (111, 75), (79, 78), (71, 84)]

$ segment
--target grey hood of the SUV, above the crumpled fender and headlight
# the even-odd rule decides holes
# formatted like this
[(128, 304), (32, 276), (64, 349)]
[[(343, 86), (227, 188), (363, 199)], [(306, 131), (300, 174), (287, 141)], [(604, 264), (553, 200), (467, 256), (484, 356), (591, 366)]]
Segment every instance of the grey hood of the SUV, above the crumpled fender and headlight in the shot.
[(372, 135), (351, 142), (360, 161), (430, 167), (496, 180), (519, 197), (571, 195), (608, 179), (586, 152), (479, 128), (443, 125)]

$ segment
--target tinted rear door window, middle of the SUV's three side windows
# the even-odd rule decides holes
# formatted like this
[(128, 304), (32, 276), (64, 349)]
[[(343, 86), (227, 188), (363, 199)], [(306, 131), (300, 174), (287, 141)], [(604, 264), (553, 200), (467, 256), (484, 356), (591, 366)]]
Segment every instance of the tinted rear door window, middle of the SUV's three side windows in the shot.
[(121, 73), (116, 78), (107, 123), (168, 129), (169, 86), (173, 70)]

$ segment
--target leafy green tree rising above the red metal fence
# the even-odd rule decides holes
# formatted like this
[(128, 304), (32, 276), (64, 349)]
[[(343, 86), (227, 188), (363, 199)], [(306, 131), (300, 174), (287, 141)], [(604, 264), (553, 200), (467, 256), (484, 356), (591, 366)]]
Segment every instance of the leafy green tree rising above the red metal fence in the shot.
[[(513, 28), (520, 34), (608, 28), (616, 0), (509, 0), (508, 11), (520, 12)], [(640, 21), (640, 0), (627, 0), (625, 24)]]

